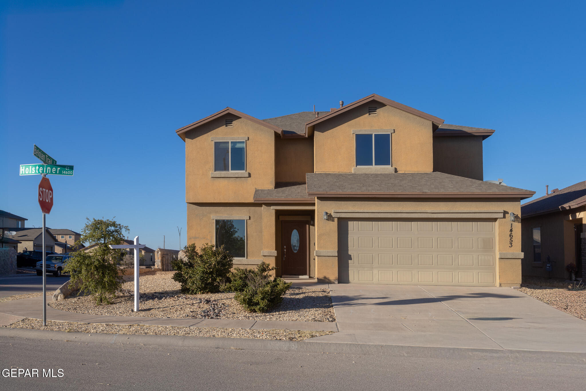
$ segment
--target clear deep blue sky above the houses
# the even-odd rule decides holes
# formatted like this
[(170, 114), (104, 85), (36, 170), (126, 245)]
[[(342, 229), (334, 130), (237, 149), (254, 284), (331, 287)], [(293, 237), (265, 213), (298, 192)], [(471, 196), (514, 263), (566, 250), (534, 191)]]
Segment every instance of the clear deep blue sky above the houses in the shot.
[(576, 2), (2, 1), (0, 209), (47, 226), (114, 217), (149, 247), (186, 243), (174, 130), (226, 106), (257, 118), (372, 93), (496, 129), (485, 179), (544, 193), (586, 180), (586, 5)]

